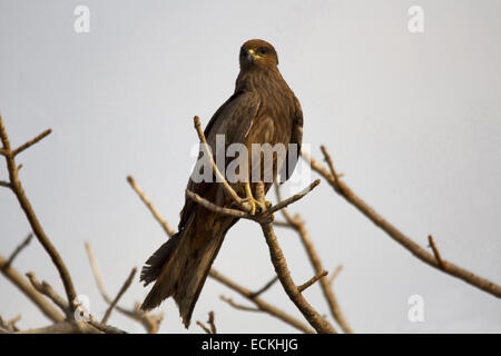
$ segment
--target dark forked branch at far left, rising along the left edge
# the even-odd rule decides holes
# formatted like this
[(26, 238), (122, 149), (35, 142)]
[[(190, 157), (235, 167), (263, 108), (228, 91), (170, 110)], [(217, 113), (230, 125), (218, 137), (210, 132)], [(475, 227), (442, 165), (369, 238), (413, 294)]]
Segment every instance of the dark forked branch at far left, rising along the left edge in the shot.
[[(48, 134), (45, 134), (45, 136), (49, 135), (50, 131), (46, 131)], [(55, 264), (56, 268), (59, 271), (59, 276), (61, 277), (62, 284), (65, 286), (65, 291), (67, 295), (68, 303), (70, 305), (71, 312), (75, 310), (73, 300), (77, 297), (77, 293), (75, 291), (73, 283), (71, 281), (71, 276), (62, 261), (61, 256), (53, 247), (52, 243), (50, 241), (49, 237), (43, 231), (43, 228), (38, 220), (37, 216), (35, 215), (33, 208), (31, 207), (30, 201), (28, 200), (24, 189), (22, 188), (21, 181), (19, 180), (18, 176), (18, 167), (14, 162), (14, 156), (22, 151), (23, 149), (35, 145), (40, 139), (42, 139), (43, 134), (37, 137), (35, 140), (21, 146), (16, 151), (11, 150), (9, 137), (7, 135), (6, 128), (3, 126), (2, 118), (0, 116), (0, 140), (3, 145), (3, 151), (4, 151), (4, 158), (7, 161), (7, 169), (9, 171), (9, 181), (10, 181), (10, 188), (18, 198), (18, 201), (24, 211), (26, 217), (28, 218), (28, 221), (30, 222), (31, 230), (33, 231), (37, 239), (40, 241), (40, 244), (43, 246), (45, 250), (49, 254), (50, 258), (52, 259), (52, 263)], [(38, 139), (38, 140), (37, 140)]]

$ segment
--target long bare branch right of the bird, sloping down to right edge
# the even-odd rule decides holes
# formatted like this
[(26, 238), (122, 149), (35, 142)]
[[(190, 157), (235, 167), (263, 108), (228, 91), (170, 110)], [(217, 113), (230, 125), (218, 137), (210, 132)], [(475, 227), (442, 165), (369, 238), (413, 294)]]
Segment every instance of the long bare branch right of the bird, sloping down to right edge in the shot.
[[(327, 152), (324, 148), (325, 154)], [(464, 280), (465, 283), (484, 290), (498, 298), (501, 297), (501, 286), (494, 284), (493, 281), (482, 278), (462, 267), (459, 267), (450, 261), (442, 260), (443, 268), (438, 261), (434, 254), (430, 254), (426, 249), (419, 246), (411, 238), (405, 236), (402, 231), (400, 231), (396, 227), (385, 220), (381, 215), (379, 215), (374, 209), (372, 209), (364, 200), (362, 200), (355, 192), (341, 179), (335, 177), (336, 174), (326, 169), (323, 165), (317, 162), (315, 159), (310, 157), (307, 154), (303, 152), (303, 158), (310, 162), (313, 170), (317, 171), (321, 176), (323, 176), (328, 184), (333, 187), (334, 191), (341, 195), (347, 202), (353, 205), (358, 211), (361, 211), (365, 217), (367, 217), (372, 222), (374, 222), (377, 227), (380, 227), (383, 231), (385, 231), (391, 238), (393, 238), (396, 243), (402, 245), (409, 251), (411, 251), (415, 257), (421, 259), (423, 263), (438, 268), (451, 276), (454, 276), (459, 279)], [(330, 156), (325, 156), (327, 160)], [(332, 160), (331, 160), (332, 162)]]

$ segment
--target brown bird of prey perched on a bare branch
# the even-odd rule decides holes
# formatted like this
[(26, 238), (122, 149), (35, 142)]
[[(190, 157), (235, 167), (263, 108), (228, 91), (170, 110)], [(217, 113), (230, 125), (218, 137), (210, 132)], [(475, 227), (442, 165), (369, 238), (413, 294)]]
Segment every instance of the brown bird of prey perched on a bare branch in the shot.
[[(240, 48), (239, 62), (240, 72), (235, 92), (214, 113), (205, 128), (207, 142), (216, 161), (218, 155), (225, 154), (216, 151), (216, 135), (225, 136), (226, 146), (235, 142), (245, 145), (248, 165), (252, 166), (247, 170), (248, 175), (255, 167), (253, 164), (256, 159), (263, 160), (262, 154), (253, 157), (253, 144), (282, 144), (286, 149), (291, 147), (288, 144), (295, 144), (297, 149), (287, 149), (285, 160), (281, 161), (277, 155), (273, 156), (273, 179), (284, 167), (285, 179), (288, 179), (301, 152), (303, 112), (299, 101), (282, 78), (277, 68), (277, 53), (268, 42), (257, 39), (245, 42)], [(228, 164), (226, 157), (224, 161)], [(259, 177), (263, 177), (269, 167), (259, 169)], [(266, 191), (271, 185), (272, 182), (266, 181)], [(248, 199), (253, 214), (263, 208), (254, 199), (254, 180), (236, 181), (232, 187)], [(195, 182), (190, 178), (187, 189), (218, 206), (232, 205), (232, 198), (226, 195), (222, 184), (215, 180)], [(186, 198), (180, 212), (179, 231), (160, 246), (141, 270), (140, 279), (145, 286), (156, 280), (141, 308), (155, 308), (164, 299), (174, 296), (185, 327), (188, 327), (210, 266), (226, 233), (237, 220)]]

